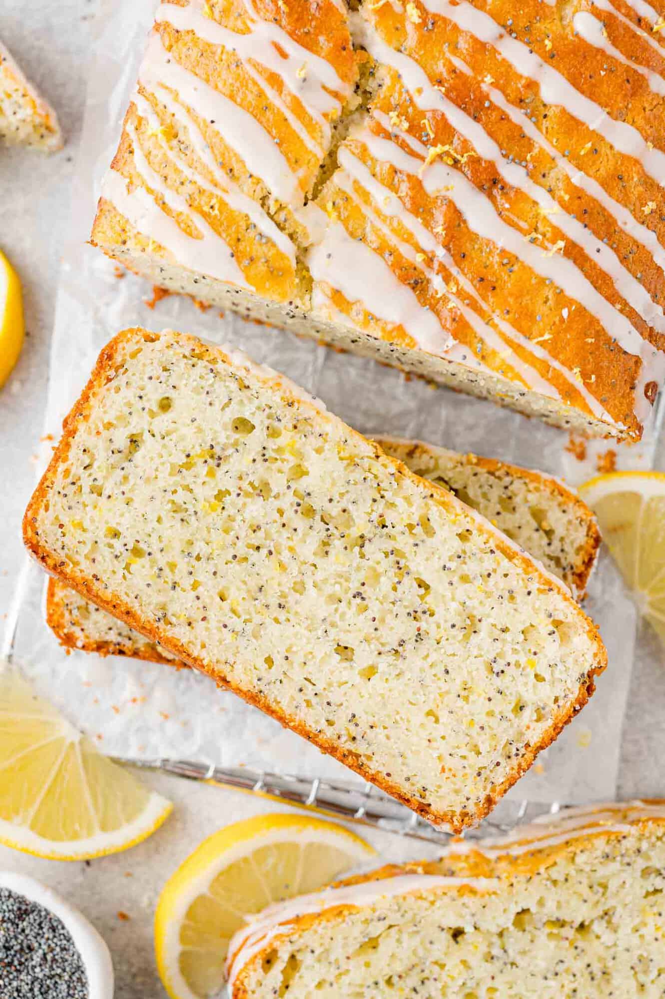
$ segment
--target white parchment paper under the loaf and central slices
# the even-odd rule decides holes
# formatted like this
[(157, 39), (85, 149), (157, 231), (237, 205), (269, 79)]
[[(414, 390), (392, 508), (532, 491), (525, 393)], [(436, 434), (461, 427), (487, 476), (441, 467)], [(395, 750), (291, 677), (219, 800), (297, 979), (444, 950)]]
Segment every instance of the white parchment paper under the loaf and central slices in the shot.
[[(654, 434), (639, 448), (599, 442), (580, 462), (568, 436), (536, 421), (215, 309), (168, 297), (146, 305), (149, 286), (86, 245), (99, 185), (115, 152), (154, 0), (108, 0), (97, 20), (87, 109), (65, 242), (51, 349), (46, 433), (55, 439), (103, 345), (119, 330), (172, 327), (238, 345), (320, 397), (367, 434), (419, 438), (537, 468), (579, 483), (596, 455), (612, 449), (620, 468), (649, 468)], [(42, 464), (48, 459), (48, 442)], [(37, 689), (101, 748), (125, 756), (199, 758), (307, 776), (352, 775), (330, 757), (188, 670), (124, 658), (66, 654), (44, 623), (43, 577), (31, 573), (15, 656)], [(635, 611), (606, 552), (592, 578), (586, 609), (599, 623), (609, 666), (590, 704), (519, 781), (511, 796), (531, 802), (582, 802), (615, 793), (621, 725), (635, 652)], [(358, 778), (359, 779), (359, 778)]]

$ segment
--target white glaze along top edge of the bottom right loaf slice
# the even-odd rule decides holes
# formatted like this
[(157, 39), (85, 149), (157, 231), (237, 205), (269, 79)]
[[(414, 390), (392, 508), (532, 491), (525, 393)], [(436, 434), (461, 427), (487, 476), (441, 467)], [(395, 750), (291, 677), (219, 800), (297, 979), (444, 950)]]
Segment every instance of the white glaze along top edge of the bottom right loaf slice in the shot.
[[(665, 819), (665, 806), (632, 801), (625, 805), (612, 803), (565, 809), (558, 816), (544, 815), (529, 825), (517, 827), (508, 836), (451, 843), (441, 859), (473, 851), (488, 857), (519, 856), (597, 834), (630, 833), (635, 823), (641, 819)], [(366, 908), (395, 895), (436, 888), (458, 889), (464, 885), (482, 893), (494, 892), (499, 888), (499, 882), (495, 878), (466, 879), (434, 874), (402, 874), (380, 881), (363, 881), (356, 885), (327, 888), (269, 906), (258, 917), (252, 918), (248, 926), (239, 930), (231, 941), (227, 959), (230, 991), (233, 991), (233, 983), (241, 969), (276, 937), (290, 933), (295, 928), (296, 920), (302, 915), (317, 914), (336, 905)]]

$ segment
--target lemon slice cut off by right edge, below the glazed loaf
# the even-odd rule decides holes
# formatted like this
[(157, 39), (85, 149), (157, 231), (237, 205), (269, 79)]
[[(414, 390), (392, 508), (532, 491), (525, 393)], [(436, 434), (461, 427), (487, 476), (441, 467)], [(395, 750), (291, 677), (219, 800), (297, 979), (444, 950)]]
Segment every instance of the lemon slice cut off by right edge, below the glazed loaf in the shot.
[(665, 474), (615, 472), (579, 494), (598, 517), (638, 610), (665, 643)]

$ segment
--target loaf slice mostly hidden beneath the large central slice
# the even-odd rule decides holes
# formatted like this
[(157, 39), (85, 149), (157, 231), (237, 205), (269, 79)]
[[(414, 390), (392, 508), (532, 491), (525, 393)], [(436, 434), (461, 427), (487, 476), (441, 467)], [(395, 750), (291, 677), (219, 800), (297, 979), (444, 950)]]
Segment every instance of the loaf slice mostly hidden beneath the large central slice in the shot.
[[(504, 462), (415, 441), (376, 438), (416, 476), (450, 490), (559, 576), (581, 597), (600, 534), (591, 510), (557, 480)], [(102, 655), (174, 663), (175, 656), (95, 606), (60, 579), (49, 580), (46, 620), (62, 644)]]

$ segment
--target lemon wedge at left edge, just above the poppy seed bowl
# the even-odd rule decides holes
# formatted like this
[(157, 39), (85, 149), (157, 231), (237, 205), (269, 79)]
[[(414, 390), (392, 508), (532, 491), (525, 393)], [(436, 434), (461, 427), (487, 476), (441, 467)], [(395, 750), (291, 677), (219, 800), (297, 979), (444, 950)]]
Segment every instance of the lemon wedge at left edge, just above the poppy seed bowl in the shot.
[(1, 843), (51, 860), (100, 857), (145, 839), (171, 808), (98, 753), (15, 669), (4, 667)]

